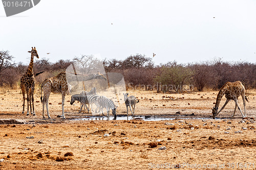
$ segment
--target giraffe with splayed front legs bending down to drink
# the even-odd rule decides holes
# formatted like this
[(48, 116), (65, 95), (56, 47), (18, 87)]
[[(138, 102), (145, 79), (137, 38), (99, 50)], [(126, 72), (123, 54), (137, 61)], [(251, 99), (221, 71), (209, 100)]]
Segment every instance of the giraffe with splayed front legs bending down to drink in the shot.
[[(220, 105), (220, 101), (222, 96), (225, 94), (226, 97), (226, 103), (222, 106), (222, 108), (220, 109), (220, 111), (218, 112), (218, 108)], [(238, 97), (242, 96), (243, 99), (243, 103), (244, 103), (244, 114), (242, 113), (242, 110), (240, 109), (240, 107), (238, 106)], [(240, 81), (236, 81), (236, 82), (226, 82), (224, 84), (224, 86), (221, 87), (218, 95), (217, 95), (217, 100), (216, 100), (216, 104), (215, 107), (212, 110), (212, 117), (215, 119), (215, 117), (222, 111), (222, 109), (224, 109), (224, 107), (227, 105), (227, 103), (233, 100), (236, 103), (236, 106), (234, 107), (234, 112), (232, 117), (234, 116), (234, 113), (236, 112), (236, 109), (238, 107), (239, 111), (241, 112), (243, 117), (246, 117), (246, 112), (245, 112), (245, 100), (248, 102), (246, 96), (245, 96), (245, 88), (244, 85), (240, 82)]]

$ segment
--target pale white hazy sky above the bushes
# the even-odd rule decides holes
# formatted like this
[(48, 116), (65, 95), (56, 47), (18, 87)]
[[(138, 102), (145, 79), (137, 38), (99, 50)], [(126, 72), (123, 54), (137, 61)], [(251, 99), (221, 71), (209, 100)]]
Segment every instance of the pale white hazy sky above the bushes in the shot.
[(247, 0), (42, 0), (6, 17), (0, 4), (0, 50), (25, 64), (31, 46), (52, 62), (81, 54), (124, 59), (155, 53), (156, 64), (214, 58), (255, 63), (255, 9), (256, 1)]

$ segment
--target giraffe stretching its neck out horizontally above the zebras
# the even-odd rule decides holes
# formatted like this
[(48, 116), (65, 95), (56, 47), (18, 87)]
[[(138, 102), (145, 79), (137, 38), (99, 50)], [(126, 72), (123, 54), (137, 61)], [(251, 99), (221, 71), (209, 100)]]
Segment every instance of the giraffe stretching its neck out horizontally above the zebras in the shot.
[[(45, 105), (46, 105), (48, 118), (51, 118), (50, 114), (49, 114), (49, 110), (48, 110), (48, 100), (49, 100), (50, 93), (51, 92), (54, 92), (54, 93), (60, 92), (62, 95), (62, 103), (61, 103), (62, 118), (66, 119), (65, 115), (64, 115), (64, 103), (65, 103), (65, 95), (68, 92), (68, 82), (67, 82), (67, 77), (66, 77), (67, 73), (68, 72), (66, 72), (66, 71), (62, 71), (57, 76), (52, 77), (52, 78), (47, 78), (47, 79), (45, 79), (44, 82), (42, 82), (42, 85), (41, 85), (42, 118), (45, 118), (45, 114), (44, 114)], [(75, 75), (77, 75), (77, 74), (75, 74)], [(88, 81), (88, 80), (92, 80), (92, 79), (106, 80), (106, 78), (103, 75), (101, 75), (99, 72), (98, 72), (98, 74), (83, 75), (80, 77), (82, 77), (81, 80), (83, 80), (83, 81)], [(44, 91), (44, 98), (42, 98), (42, 90)]]

